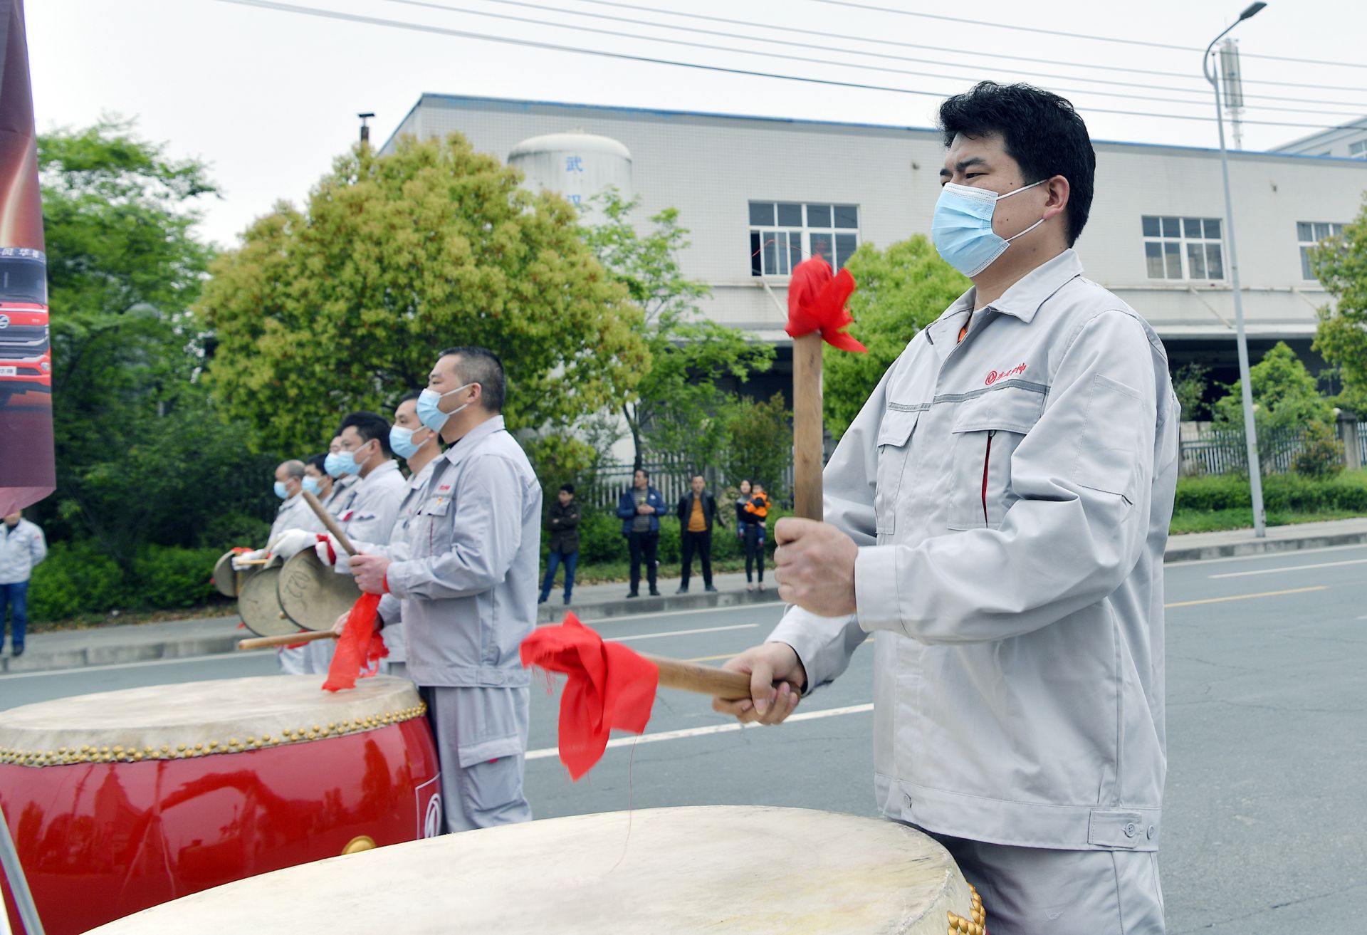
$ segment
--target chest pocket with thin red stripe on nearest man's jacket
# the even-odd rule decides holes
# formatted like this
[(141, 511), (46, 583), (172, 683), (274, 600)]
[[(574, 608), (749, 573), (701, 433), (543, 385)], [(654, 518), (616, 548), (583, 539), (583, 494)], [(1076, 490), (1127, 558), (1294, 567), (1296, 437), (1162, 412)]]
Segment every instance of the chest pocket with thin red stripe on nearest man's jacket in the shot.
[(1012, 455), (1044, 410), (1044, 395), (997, 390), (960, 403), (950, 429), (954, 476), (950, 529), (997, 529), (1020, 499), (1012, 488)]

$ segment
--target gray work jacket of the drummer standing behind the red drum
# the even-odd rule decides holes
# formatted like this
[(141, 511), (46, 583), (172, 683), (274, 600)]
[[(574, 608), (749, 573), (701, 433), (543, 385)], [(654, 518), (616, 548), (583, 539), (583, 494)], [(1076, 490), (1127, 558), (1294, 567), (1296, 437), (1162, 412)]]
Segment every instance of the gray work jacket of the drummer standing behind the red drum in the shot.
[(437, 459), (390, 565), (403, 599), (409, 675), (418, 685), (526, 686), (518, 644), (536, 626), (541, 488), (496, 416)]

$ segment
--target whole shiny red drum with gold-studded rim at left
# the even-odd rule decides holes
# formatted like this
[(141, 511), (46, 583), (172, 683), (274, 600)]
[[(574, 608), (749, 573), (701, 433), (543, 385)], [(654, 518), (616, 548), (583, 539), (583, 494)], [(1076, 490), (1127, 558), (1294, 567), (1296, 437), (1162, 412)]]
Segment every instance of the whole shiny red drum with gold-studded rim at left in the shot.
[(48, 935), (435, 834), (436, 749), (413, 683), (321, 685), (221, 679), (0, 712), (0, 807)]

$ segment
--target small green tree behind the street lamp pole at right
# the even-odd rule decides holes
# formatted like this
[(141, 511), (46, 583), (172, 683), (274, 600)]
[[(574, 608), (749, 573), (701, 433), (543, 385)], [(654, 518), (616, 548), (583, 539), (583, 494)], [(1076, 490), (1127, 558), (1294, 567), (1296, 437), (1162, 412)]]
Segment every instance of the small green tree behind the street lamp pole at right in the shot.
[[(1258, 431), (1258, 458), (1266, 473), (1271, 454), (1289, 432), (1299, 432), (1314, 422), (1333, 421), (1333, 409), (1319, 395), (1315, 377), (1296, 357), (1286, 342), (1277, 344), (1248, 369), (1254, 384), (1254, 428)], [(1234, 431), (1244, 428), (1243, 381), (1234, 380), (1229, 392), (1211, 406), (1215, 422)]]

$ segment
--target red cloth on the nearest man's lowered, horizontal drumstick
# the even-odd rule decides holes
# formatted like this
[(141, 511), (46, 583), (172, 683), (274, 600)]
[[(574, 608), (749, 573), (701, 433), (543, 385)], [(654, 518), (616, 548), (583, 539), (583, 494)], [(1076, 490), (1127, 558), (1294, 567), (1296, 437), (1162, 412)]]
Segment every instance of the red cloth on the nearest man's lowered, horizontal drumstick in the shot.
[(659, 667), (621, 642), (603, 642), (574, 614), (559, 626), (533, 630), (522, 640), (521, 655), (524, 666), (569, 675), (560, 696), (560, 763), (571, 779), (601, 759), (614, 727), (645, 730)]

